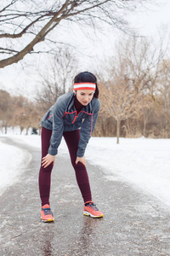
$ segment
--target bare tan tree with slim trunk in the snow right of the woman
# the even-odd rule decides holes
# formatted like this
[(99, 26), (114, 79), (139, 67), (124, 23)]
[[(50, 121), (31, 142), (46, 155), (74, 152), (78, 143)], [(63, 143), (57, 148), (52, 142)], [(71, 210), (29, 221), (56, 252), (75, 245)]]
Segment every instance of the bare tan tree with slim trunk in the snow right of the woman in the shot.
[[(160, 65), (165, 53), (166, 47), (162, 47), (162, 41), (154, 46), (151, 39), (133, 37), (126, 40), (124, 38), (116, 44), (116, 54), (111, 55), (110, 59), (105, 61), (105, 66), (103, 65), (105, 67), (103, 70), (105, 71), (106, 81), (104, 83), (108, 85), (107, 80), (109, 80), (111, 91), (114, 87), (114, 93), (107, 91), (106, 94), (108, 94), (108, 98), (111, 94), (112, 103), (115, 104), (115, 108), (118, 106), (116, 113), (113, 111), (113, 116), (118, 114), (119, 104), (121, 104), (121, 111), (124, 116), (124, 118), (121, 118), (122, 120), (130, 118), (130, 109), (136, 114), (139, 110), (138, 119), (143, 115), (144, 135), (146, 134), (146, 126), (149, 122), (151, 109), (154, 106), (158, 108), (155, 97), (158, 93), (158, 79), (165, 69), (163, 65)], [(110, 87), (108, 88), (107, 86), (107, 90), (110, 90)], [(137, 99), (140, 104), (136, 102)], [(130, 103), (129, 100), (132, 101), (132, 105), (131, 108), (127, 109), (126, 106)], [(126, 111), (128, 113), (125, 114)], [(121, 112), (118, 115), (121, 116)], [(132, 123), (132, 118), (130, 120)], [(117, 122), (120, 124), (118, 119)], [(129, 131), (128, 121), (126, 121), (126, 124), (127, 127), (124, 125), (124, 128)], [(119, 132), (119, 127), (117, 132)], [(117, 134), (118, 136), (119, 134)]]

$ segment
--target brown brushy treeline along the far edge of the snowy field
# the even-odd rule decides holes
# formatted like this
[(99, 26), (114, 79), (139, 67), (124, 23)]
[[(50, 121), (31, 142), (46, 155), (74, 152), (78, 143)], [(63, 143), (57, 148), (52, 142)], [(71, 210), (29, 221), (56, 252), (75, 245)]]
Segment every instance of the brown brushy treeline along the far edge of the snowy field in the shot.
[[(111, 106), (108, 106), (108, 102), (102, 101), (102, 89), (100, 90), (100, 97), (101, 108), (94, 136), (116, 137), (116, 118), (119, 117), (117, 105), (119, 104), (116, 105), (117, 116), (114, 118), (109, 112)], [(146, 96), (144, 95), (144, 97)], [(125, 114), (124, 119), (120, 119), (120, 137), (170, 137), (170, 111), (169, 108), (165, 108), (163, 96), (158, 95), (154, 98), (149, 97), (149, 99), (150, 102), (145, 102), (145, 105), (141, 106), (142, 108), (136, 107), (137, 111), (135, 110), (132, 116), (126, 119)], [(53, 103), (51, 102), (51, 105)], [(105, 107), (108, 106), (108, 112), (103, 108), (104, 105)], [(28, 132), (31, 127), (41, 130), (40, 122), (47, 110), (48, 108), (45, 108), (41, 102), (31, 102), (24, 96), (10, 96), (7, 91), (0, 90), (0, 130), (4, 131), (5, 129), (5, 133), (8, 133), (9, 126), (20, 126), (20, 134), (24, 129)], [(115, 109), (113, 112), (115, 113)]]

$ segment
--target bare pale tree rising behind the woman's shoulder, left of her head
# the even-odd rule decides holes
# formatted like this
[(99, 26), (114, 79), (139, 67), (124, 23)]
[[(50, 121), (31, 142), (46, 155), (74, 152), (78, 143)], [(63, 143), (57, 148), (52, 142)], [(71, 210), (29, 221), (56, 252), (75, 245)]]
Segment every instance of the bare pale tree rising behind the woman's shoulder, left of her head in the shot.
[(38, 71), (41, 85), (35, 100), (40, 112), (47, 111), (60, 95), (72, 88), (77, 70), (77, 57), (69, 47), (60, 47), (56, 55), (47, 58), (42, 70)]

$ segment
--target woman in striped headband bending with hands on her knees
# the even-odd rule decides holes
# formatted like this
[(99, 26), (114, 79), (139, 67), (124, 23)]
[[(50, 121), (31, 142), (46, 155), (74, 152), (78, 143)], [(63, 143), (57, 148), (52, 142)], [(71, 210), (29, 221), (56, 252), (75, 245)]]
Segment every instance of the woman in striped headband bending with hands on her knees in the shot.
[(84, 201), (83, 214), (93, 218), (103, 217), (103, 213), (92, 201), (84, 152), (94, 131), (100, 103), (97, 79), (93, 73), (79, 73), (74, 79), (74, 88), (63, 96), (42, 118), (42, 166), (39, 172), (39, 190), (42, 200), (42, 221), (54, 221), (49, 206), (50, 178), (55, 155), (62, 136), (71, 155), (77, 183)]

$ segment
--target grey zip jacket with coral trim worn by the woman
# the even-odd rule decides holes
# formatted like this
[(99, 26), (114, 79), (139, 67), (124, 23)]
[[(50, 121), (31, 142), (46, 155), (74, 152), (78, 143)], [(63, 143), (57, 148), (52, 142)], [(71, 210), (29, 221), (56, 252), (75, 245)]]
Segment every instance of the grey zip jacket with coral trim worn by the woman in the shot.
[(80, 140), (78, 144), (77, 156), (82, 157), (91, 137), (98, 118), (100, 102), (98, 98), (93, 98), (88, 106), (84, 106), (77, 113), (74, 106), (75, 93), (68, 92), (59, 96), (47, 113), (42, 118), (42, 126), (52, 131), (48, 154), (58, 154), (59, 144), (63, 131), (75, 131), (80, 129)]

